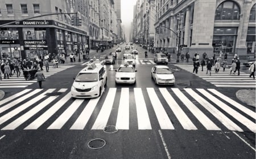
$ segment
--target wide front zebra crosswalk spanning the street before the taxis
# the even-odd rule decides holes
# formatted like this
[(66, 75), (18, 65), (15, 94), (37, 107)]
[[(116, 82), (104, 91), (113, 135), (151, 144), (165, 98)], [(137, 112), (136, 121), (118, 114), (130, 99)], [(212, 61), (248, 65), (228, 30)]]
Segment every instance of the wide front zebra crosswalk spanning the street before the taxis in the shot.
[(255, 119), (255, 111), (216, 89), (109, 88), (92, 99), (74, 99), (65, 88), (24, 89), (0, 101), (2, 131), (38, 130), (42, 126), (47, 130), (67, 126), (69, 130), (104, 130), (115, 125), (119, 130), (255, 133)]

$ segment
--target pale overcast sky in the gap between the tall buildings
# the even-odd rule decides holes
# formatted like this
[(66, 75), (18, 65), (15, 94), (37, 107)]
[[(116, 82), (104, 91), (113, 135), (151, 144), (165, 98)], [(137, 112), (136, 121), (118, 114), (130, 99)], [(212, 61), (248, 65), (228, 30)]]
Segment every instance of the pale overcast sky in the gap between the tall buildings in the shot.
[(121, 0), (121, 19), (122, 25), (125, 25), (126, 40), (129, 41), (131, 22), (133, 22), (133, 7), (136, 0)]

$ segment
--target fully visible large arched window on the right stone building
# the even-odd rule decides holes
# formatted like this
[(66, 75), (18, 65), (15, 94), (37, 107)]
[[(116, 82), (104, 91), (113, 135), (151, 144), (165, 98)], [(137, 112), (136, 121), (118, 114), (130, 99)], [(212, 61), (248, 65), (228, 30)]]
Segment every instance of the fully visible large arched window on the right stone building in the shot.
[(240, 8), (233, 1), (222, 2), (216, 9), (215, 20), (239, 20)]

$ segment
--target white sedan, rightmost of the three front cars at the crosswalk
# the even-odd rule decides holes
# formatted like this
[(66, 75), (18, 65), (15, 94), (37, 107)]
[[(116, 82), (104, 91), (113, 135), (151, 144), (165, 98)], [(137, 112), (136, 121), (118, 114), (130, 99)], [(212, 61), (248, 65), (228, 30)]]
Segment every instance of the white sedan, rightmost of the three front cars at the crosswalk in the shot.
[(151, 78), (155, 81), (155, 84), (174, 85), (175, 83), (174, 73), (168, 66), (164, 65), (152, 67)]

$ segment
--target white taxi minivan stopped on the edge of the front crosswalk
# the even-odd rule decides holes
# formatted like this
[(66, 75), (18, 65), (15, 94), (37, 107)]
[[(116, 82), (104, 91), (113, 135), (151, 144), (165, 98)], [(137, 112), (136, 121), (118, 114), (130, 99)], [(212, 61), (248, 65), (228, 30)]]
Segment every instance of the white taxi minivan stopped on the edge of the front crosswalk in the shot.
[(107, 72), (104, 66), (90, 63), (74, 79), (71, 87), (72, 97), (100, 97), (107, 82)]

